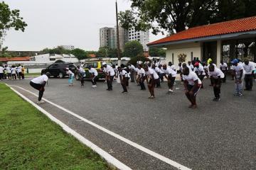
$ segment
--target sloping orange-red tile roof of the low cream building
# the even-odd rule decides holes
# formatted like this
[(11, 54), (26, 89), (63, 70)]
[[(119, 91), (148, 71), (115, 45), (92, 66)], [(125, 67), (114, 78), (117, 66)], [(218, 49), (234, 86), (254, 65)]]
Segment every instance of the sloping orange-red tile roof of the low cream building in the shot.
[(256, 30), (256, 16), (189, 28), (188, 30), (183, 30), (169, 37), (150, 42), (148, 45), (156, 45), (163, 42), (188, 40), (193, 38), (204, 38), (214, 35), (241, 33), (250, 30)]

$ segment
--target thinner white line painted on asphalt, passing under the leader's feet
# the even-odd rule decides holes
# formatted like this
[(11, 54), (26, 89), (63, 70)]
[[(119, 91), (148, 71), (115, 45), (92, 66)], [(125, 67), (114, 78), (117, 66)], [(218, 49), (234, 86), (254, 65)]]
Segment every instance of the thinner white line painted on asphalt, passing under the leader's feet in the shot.
[[(32, 94), (33, 96), (38, 97), (38, 95), (34, 94), (34, 93), (31, 92), (31, 91), (28, 91), (28, 90), (26, 90), (26, 89), (23, 89), (23, 88), (20, 87), (20, 86), (16, 86), (16, 87), (18, 87), (19, 89), (21, 89), (21, 90), (23, 90), (23, 91), (27, 91), (28, 93)], [(82, 116), (77, 115), (77, 114), (73, 113), (72, 111), (69, 111), (69, 110), (66, 109), (66, 108), (63, 108), (62, 106), (58, 106), (57, 104), (55, 104), (55, 103), (53, 103), (53, 102), (51, 102), (51, 101), (48, 101), (46, 98), (43, 98), (43, 100), (44, 100), (44, 101), (47, 101), (48, 103), (50, 103), (51, 105), (53, 105), (53, 106), (55, 106), (55, 107), (57, 107), (57, 108), (60, 108), (61, 110), (65, 111), (66, 113), (69, 113), (70, 115), (73, 115), (73, 116), (75, 116), (76, 118), (79, 118), (80, 120), (84, 121), (85, 123), (88, 123), (88, 124), (94, 126), (95, 128), (98, 128), (98, 129), (102, 130), (103, 132), (106, 132), (107, 134), (112, 135), (113, 137), (116, 137), (117, 139), (122, 140), (123, 142), (126, 142), (128, 145), (131, 145), (132, 147), (135, 147), (135, 148), (141, 150), (142, 152), (145, 152), (146, 154), (151, 155), (152, 157), (155, 157), (155, 158), (157, 158), (157, 159), (160, 159), (162, 162), (166, 162), (167, 164), (170, 164), (171, 166), (174, 166), (174, 167), (176, 167), (177, 169), (181, 169), (181, 170), (191, 170), (191, 169), (189, 169), (189, 168), (186, 167), (186, 166), (183, 166), (183, 165), (181, 165), (181, 164), (178, 164), (178, 162), (175, 162), (175, 161), (173, 161), (173, 160), (171, 160), (171, 159), (169, 159), (169, 158), (167, 158), (167, 157), (162, 156), (161, 154), (157, 154), (156, 152), (151, 151), (151, 150), (147, 149), (146, 147), (143, 147), (142, 145), (139, 145), (139, 144), (137, 144), (137, 143), (135, 143), (135, 142), (132, 142), (131, 140), (127, 140), (126, 138), (124, 138), (124, 137), (118, 135), (117, 133), (114, 133), (114, 132), (112, 132), (112, 131), (110, 131), (110, 130), (107, 130), (106, 128), (103, 128), (102, 126), (97, 125), (96, 123), (92, 123), (90, 120), (87, 120), (86, 118), (83, 118)]]

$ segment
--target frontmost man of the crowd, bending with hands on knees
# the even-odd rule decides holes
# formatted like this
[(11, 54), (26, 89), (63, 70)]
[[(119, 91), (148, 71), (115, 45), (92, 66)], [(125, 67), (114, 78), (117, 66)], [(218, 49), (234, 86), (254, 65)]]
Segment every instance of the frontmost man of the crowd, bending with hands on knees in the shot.
[(183, 67), (183, 85), (185, 88), (185, 94), (191, 105), (188, 108), (197, 108), (196, 95), (201, 89), (201, 80), (198, 78), (195, 72), (192, 72), (188, 67)]

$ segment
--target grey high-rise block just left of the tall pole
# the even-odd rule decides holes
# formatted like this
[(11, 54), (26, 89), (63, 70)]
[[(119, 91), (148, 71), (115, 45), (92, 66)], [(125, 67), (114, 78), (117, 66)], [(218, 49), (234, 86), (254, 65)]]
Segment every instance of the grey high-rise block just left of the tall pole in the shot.
[(114, 28), (100, 28), (100, 47), (115, 47)]

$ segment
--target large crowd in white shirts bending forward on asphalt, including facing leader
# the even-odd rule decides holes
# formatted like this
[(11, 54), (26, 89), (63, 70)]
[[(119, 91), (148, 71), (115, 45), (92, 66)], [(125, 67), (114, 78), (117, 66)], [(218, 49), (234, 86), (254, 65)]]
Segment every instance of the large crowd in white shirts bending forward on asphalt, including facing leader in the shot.
[[(235, 59), (231, 62), (230, 67), (231, 74), (235, 80), (235, 96), (242, 96), (243, 81), (245, 81), (245, 90), (251, 91), (253, 84), (253, 75), (256, 74), (255, 63), (245, 60), (243, 63), (240, 60)], [(97, 87), (98, 72), (95, 68), (89, 67), (89, 73), (92, 81), (92, 88)], [(213, 86), (213, 101), (220, 101), (220, 89), (222, 83), (226, 81), (226, 74), (228, 72), (228, 64), (225, 62), (220, 63), (220, 68), (212, 62), (201, 63), (200, 61), (179, 63), (178, 70), (174, 64), (169, 62), (168, 64), (161, 64), (159, 62), (152, 62), (149, 64), (128, 64), (125, 66), (110, 65), (106, 62), (102, 62), (102, 71), (105, 73), (105, 81), (107, 82), (107, 91), (112, 91), (112, 82), (117, 79), (122, 85), (122, 94), (127, 94), (127, 87), (129, 86), (129, 80), (131, 82), (137, 82), (142, 91), (146, 90), (145, 81), (149, 89), (149, 98), (155, 98), (154, 89), (161, 87), (161, 82), (164, 78), (167, 80), (168, 91), (167, 94), (174, 93), (174, 84), (177, 76), (177, 71), (180, 72), (181, 81), (183, 82), (185, 95), (188, 101), (191, 102), (189, 108), (196, 108), (196, 96), (198, 91), (203, 89), (203, 80), (205, 77), (210, 79), (210, 86)], [(73, 84), (74, 73), (67, 69), (67, 74), (70, 76), (69, 84)], [(85, 70), (78, 66), (78, 74), (81, 81), (81, 86), (84, 86)], [(33, 79), (31, 86), (41, 91), (38, 103), (41, 102), (42, 91), (44, 91), (44, 85), (48, 80), (47, 75), (43, 75), (41, 78)], [(43, 84), (43, 85), (38, 85)]]

